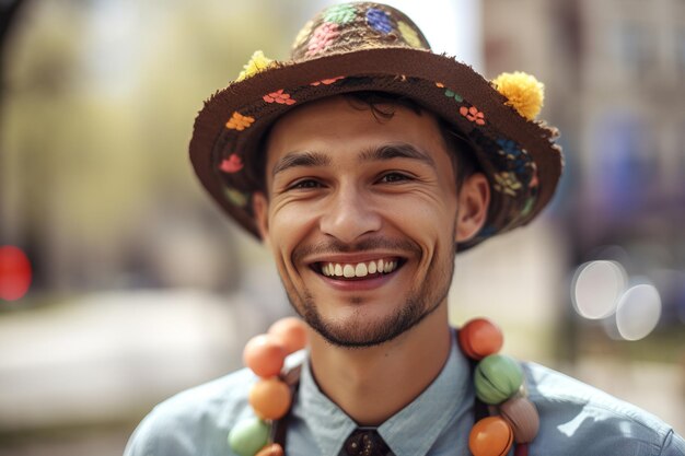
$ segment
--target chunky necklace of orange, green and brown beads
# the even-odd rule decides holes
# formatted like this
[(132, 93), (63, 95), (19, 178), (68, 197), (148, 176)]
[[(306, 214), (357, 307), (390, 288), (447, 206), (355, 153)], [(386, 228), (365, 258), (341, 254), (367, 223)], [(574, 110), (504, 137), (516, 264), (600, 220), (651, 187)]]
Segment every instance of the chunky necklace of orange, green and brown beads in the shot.
[[(502, 331), (476, 318), (457, 332), (469, 359), (476, 389), (475, 424), (468, 436), (474, 456), (504, 456), (515, 442), (515, 456), (527, 456), (539, 429), (539, 417), (527, 399), (519, 362), (499, 354)], [(298, 390), (299, 366), (282, 373), (286, 356), (306, 344), (304, 324), (294, 317), (276, 321), (266, 335), (252, 338), (243, 360), (259, 381), (249, 391), (255, 417), (240, 421), (229, 433), (229, 446), (239, 456), (283, 456), (290, 408)]]

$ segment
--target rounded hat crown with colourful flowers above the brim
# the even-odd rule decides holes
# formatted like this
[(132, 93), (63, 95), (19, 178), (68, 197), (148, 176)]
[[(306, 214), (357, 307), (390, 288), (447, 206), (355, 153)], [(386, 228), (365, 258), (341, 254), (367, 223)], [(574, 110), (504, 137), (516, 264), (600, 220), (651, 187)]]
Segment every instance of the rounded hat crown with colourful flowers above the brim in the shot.
[(430, 50), (419, 27), (400, 11), (375, 2), (328, 7), (298, 34), (291, 58), (295, 61), (371, 48)]

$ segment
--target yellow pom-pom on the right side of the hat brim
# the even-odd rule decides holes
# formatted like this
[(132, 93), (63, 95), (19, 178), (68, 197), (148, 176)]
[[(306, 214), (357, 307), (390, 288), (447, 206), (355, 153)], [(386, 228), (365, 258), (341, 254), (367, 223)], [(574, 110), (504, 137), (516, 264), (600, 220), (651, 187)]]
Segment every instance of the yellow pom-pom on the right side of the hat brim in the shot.
[(507, 104), (513, 106), (526, 119), (533, 120), (543, 108), (545, 85), (535, 77), (515, 71), (498, 75), (492, 83), (497, 91), (507, 97)]

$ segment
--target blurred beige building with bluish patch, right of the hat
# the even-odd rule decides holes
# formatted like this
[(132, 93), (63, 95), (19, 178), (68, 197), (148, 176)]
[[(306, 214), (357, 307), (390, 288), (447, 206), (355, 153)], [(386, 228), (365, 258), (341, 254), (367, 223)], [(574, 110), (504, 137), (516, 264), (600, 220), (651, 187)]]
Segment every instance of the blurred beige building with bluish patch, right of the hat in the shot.
[(620, 246), (608, 259), (659, 282), (664, 319), (683, 325), (685, 3), (487, 0), (484, 32), (489, 75), (522, 70), (546, 84), (571, 262)]

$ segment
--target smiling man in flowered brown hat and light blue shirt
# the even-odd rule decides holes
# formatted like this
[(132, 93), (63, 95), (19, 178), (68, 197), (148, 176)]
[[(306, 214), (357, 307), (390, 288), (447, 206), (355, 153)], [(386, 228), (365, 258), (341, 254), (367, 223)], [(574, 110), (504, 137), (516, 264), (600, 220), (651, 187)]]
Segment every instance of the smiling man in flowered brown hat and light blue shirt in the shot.
[[(490, 84), (433, 55), (390, 7), (349, 3), (303, 28), (292, 61), (257, 52), (206, 104), (195, 169), (271, 250), (309, 331), (276, 428), (285, 439), (259, 455), (468, 455), (469, 435), (485, 442), (471, 442), (478, 455), (685, 454), (657, 418), (530, 363), (534, 407), (514, 428), (539, 414), (536, 435), (506, 424), (502, 445), (490, 431), (473, 436), (484, 409), (475, 377), (497, 386), (503, 374), (488, 378), (484, 360), (474, 375), (448, 325), (454, 255), (526, 224), (552, 198), (561, 156), (555, 131), (533, 121), (541, 95), (529, 77)], [(227, 441), (254, 418), (256, 382), (243, 370), (165, 401), (126, 455), (256, 453), (262, 443), (245, 453)]]

